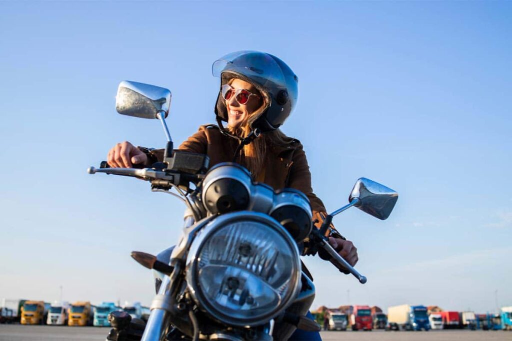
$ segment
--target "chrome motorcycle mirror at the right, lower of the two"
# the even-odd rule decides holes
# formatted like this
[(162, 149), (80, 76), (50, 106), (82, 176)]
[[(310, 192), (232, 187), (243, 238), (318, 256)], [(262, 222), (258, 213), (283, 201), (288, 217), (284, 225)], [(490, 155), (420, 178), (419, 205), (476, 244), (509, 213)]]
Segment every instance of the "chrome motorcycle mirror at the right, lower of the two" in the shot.
[(354, 198), (360, 200), (360, 203), (356, 205), (359, 210), (385, 220), (395, 207), (398, 193), (389, 187), (361, 177), (356, 181), (350, 193), (349, 201)]

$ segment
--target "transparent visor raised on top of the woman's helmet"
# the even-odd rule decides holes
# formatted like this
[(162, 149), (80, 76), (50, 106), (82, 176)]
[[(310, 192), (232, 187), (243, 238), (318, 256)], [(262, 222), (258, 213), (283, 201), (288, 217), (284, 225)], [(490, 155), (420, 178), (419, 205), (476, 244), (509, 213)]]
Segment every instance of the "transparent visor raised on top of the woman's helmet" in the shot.
[(211, 66), (215, 77), (229, 72), (257, 82), (265, 88), (286, 88), (281, 66), (268, 54), (257, 51), (238, 51), (221, 57)]

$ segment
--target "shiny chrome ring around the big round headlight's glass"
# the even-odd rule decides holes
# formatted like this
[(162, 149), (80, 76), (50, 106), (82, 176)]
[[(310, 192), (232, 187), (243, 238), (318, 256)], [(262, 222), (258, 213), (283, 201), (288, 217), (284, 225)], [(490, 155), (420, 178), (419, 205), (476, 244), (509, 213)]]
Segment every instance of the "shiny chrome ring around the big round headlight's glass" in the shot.
[[(294, 264), (290, 264), (292, 269), (294, 270), (293, 275), (290, 279), (290, 288), (292, 290), (288, 293), (287, 297), (283, 299), (279, 308), (276, 308), (274, 311), (261, 316), (259, 318), (252, 316), (251, 319), (246, 320), (236, 320), (233, 319), (232, 316), (224, 315), (223, 313), (215, 310), (215, 308), (211, 307), (208, 302), (202, 297), (201, 288), (198, 286), (199, 280), (197, 278), (197, 267), (198, 262), (200, 261), (198, 255), (201, 252), (201, 247), (204, 242), (208, 240), (208, 237), (214, 234), (217, 230), (223, 228), (224, 226), (238, 222), (238, 221), (256, 221), (267, 225), (269, 228), (274, 229), (274, 231), (278, 232), (290, 246), (291, 251), (295, 254)], [(226, 323), (227, 325), (232, 326), (257, 326), (264, 323), (267, 323), (271, 319), (273, 319), (276, 315), (278, 315), (281, 311), (286, 309), (295, 299), (297, 292), (301, 289), (301, 261), (300, 261), (300, 253), (298, 252), (297, 245), (295, 241), (292, 239), (290, 234), (283, 228), (281, 224), (279, 224), (275, 219), (270, 216), (262, 213), (251, 212), (251, 211), (240, 211), (240, 212), (231, 212), (218, 216), (216, 219), (211, 220), (204, 229), (198, 234), (192, 245), (190, 246), (188, 257), (186, 260), (186, 282), (187, 287), (190, 291), (190, 294), (198, 303), (198, 306), (208, 312), (211, 316), (214, 316), (216, 320)]]

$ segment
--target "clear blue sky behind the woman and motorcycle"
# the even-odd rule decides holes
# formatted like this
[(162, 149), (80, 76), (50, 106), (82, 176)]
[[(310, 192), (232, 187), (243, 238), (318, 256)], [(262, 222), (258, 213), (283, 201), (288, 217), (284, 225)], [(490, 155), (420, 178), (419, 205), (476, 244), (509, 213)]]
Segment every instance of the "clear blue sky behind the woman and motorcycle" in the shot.
[(306, 258), (319, 305), (512, 305), (512, 3), (0, 2), (0, 298), (149, 304), (130, 257), (180, 234), (183, 204), (88, 175), (117, 142), (163, 147), (118, 115), (117, 85), (169, 88), (179, 143), (214, 122), (211, 63), (260, 50), (298, 75), (283, 130), (304, 144), (328, 210), (358, 177), (399, 192), (380, 221), (352, 209), (359, 284)]

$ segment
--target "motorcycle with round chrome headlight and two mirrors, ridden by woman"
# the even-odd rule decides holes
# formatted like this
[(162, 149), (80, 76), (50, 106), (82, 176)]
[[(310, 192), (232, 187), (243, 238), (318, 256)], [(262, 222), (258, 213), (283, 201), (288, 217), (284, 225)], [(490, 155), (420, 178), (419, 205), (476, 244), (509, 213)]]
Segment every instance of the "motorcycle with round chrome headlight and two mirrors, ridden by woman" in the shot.
[(114, 312), (107, 339), (286, 340), (296, 328), (319, 331), (306, 317), (315, 286), (301, 255), (323, 255), (366, 283), (325, 237), (333, 217), (351, 207), (386, 219), (398, 194), (367, 178), (356, 181), (349, 203), (313, 228), (311, 206), (300, 191), (255, 183), (235, 163), (209, 168), (207, 155), (174, 150), (165, 118), (168, 89), (123, 81), (116, 96), (122, 115), (160, 120), (167, 144), (163, 162), (148, 168), (90, 167), (90, 174), (132, 176), (149, 181), (154, 192), (186, 204), (176, 246), (154, 256), (132, 257), (153, 269), (156, 296), (144, 325)]

